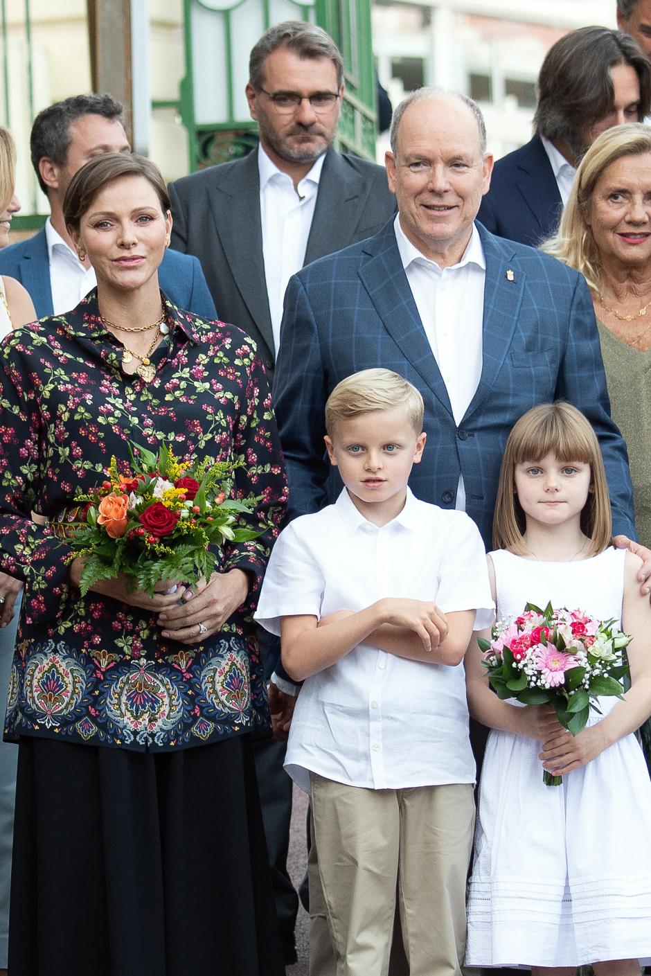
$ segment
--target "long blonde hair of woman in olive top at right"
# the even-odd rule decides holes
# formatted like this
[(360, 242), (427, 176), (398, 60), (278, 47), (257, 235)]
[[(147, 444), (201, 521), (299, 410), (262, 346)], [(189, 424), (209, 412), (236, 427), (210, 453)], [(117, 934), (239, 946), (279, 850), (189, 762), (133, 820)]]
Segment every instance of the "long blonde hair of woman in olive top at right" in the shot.
[(651, 127), (617, 125), (592, 142), (574, 178), (557, 233), (542, 250), (585, 276), (593, 292), (601, 291), (601, 256), (588, 224), (594, 187), (611, 163), (627, 156), (651, 154)]

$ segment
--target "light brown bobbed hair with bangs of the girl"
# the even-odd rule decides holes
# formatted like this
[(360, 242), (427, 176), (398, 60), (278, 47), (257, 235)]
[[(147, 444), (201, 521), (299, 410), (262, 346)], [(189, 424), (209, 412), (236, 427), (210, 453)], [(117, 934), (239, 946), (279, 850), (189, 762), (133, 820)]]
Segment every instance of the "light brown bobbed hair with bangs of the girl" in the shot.
[(581, 529), (591, 541), (588, 554), (602, 552), (612, 541), (612, 516), (601, 449), (588, 420), (563, 400), (528, 410), (509, 433), (493, 517), (494, 548), (519, 555), (526, 552), (522, 538), (526, 519), (515, 494), (515, 468), (542, 461), (548, 454), (566, 464), (580, 461), (590, 465), (590, 494), (581, 513)]

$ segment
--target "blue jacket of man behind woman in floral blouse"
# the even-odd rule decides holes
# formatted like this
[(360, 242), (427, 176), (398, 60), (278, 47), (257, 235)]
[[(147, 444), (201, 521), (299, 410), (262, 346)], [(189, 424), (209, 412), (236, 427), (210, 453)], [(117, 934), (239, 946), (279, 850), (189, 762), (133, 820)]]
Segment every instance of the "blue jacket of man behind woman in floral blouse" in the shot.
[[(28, 240), (0, 251), (0, 274), (20, 281), (39, 318), (54, 314), (45, 227)], [(158, 269), (158, 280), (174, 305), (208, 321), (217, 318), (215, 303), (196, 258), (168, 249)]]

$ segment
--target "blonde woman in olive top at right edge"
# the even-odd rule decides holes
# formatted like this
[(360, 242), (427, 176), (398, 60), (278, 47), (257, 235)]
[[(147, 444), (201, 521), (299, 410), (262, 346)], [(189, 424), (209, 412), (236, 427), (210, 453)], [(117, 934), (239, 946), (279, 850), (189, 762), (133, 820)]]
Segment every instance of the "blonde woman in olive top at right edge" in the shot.
[[(651, 128), (617, 126), (584, 156), (544, 250), (590, 286), (613, 420), (629, 451), (635, 528), (651, 543)], [(651, 723), (641, 730), (651, 770)]]

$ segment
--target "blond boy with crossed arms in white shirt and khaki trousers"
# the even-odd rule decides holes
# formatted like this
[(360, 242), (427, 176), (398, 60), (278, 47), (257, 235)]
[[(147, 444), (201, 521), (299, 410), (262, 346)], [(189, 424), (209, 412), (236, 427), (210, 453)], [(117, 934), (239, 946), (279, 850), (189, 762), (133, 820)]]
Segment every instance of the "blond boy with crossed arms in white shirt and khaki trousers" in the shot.
[(474, 822), (463, 657), (492, 619), (484, 547), (461, 511), (417, 500), (423, 398), (364, 370), (326, 404), (345, 488), (293, 521), (258, 620), (305, 684), (285, 766), (308, 790), (337, 976), (387, 972), (396, 891), (411, 976), (461, 974)]

